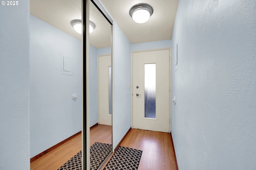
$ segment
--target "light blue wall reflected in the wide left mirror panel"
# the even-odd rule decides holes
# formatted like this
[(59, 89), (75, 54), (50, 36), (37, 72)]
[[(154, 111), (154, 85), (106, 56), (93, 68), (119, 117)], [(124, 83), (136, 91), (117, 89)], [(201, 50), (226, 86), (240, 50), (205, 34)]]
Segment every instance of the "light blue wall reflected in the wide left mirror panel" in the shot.
[[(30, 15), (31, 157), (82, 130), (81, 48), (81, 41)], [(73, 76), (62, 74), (62, 54), (73, 57)]]

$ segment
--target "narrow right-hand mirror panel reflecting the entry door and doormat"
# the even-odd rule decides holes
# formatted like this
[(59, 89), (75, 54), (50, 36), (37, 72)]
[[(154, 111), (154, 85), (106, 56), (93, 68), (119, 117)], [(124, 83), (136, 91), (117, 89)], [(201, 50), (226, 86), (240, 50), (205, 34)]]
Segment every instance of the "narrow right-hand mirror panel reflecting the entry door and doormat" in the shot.
[(99, 168), (112, 153), (112, 26), (95, 2), (89, 2), (90, 150), (100, 152), (90, 152), (90, 168)]

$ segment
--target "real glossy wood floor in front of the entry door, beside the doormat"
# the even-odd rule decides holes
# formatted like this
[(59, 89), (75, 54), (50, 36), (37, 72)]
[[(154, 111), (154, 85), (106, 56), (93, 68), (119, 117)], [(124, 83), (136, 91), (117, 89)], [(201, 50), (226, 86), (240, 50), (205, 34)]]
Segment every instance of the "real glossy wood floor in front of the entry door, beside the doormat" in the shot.
[(138, 170), (177, 170), (169, 133), (132, 129), (121, 146), (142, 150)]

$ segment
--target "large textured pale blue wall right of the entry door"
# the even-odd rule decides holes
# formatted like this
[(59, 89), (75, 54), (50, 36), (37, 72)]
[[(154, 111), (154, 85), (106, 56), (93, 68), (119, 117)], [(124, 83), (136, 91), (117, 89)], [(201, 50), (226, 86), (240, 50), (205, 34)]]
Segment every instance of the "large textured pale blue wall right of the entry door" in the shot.
[(255, 0), (179, 1), (171, 125), (180, 170), (256, 169), (255, 9)]

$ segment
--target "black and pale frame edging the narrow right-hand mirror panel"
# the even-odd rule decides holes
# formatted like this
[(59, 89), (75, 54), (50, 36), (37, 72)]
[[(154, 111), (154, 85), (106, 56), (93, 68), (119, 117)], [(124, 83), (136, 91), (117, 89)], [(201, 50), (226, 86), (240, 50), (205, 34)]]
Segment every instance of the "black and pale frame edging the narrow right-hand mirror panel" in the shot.
[[(111, 25), (111, 63), (112, 63), (112, 96), (113, 96), (113, 25), (114, 20), (99, 0), (82, 0), (82, 169), (90, 169), (90, 119), (89, 119), (89, 2), (92, 2)], [(112, 106), (113, 106), (113, 98)], [(112, 107), (111, 106), (111, 107)], [(113, 108), (112, 108), (113, 122)], [(112, 124), (112, 152), (113, 152), (113, 124)], [(105, 158), (104, 165), (111, 153)]]

